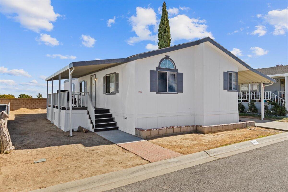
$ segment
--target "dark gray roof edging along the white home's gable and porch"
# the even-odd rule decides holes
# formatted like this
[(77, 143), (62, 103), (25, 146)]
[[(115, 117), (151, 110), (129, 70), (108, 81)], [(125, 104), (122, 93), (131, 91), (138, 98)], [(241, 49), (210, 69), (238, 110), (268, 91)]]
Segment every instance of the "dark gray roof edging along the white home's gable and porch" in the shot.
[[(214, 41), (210, 37), (205, 37), (205, 38), (199, 39), (197, 41), (192, 41), (192, 42), (188, 42), (188, 43), (182, 43), (182, 44), (174, 45), (174, 46), (171, 46), (171, 47), (166, 47), (166, 48), (162, 48), (162, 49), (158, 49), (158, 50), (154, 50), (154, 51), (149, 51), (149, 52), (144, 52), (144, 53), (140, 53), (140, 54), (137, 54), (137, 55), (132, 55), (132, 56), (127, 57), (127, 58), (72, 62), (68, 66), (62, 68), (58, 72), (56, 72), (53, 75), (50, 75), (49, 77), (47, 77), (45, 79), (45, 81), (50, 80), (52, 77), (55, 77), (59, 73), (63, 73), (64, 71), (67, 72), (67, 68), (69, 69), (69, 68), (76, 67), (76, 66), (91, 66), (91, 65), (102, 66), (102, 65), (105, 65), (105, 64), (111, 64), (110, 66), (107, 66), (107, 67), (104, 67), (104, 68), (101, 68), (101, 69), (97, 70), (97, 71), (100, 71), (100, 70), (103, 70), (103, 69), (107, 69), (108, 67), (115, 66), (116, 64), (123, 64), (123, 63), (134, 61), (134, 60), (137, 60), (137, 59), (143, 59), (143, 58), (147, 58), (147, 57), (151, 57), (151, 56), (155, 56), (155, 55), (159, 55), (159, 54), (163, 54), (163, 53), (167, 53), (167, 52), (171, 52), (171, 51), (175, 51), (175, 50), (179, 50), (179, 49), (183, 49), (183, 48), (187, 48), (187, 47), (192, 47), (194, 45), (200, 45), (201, 43), (204, 43), (204, 42), (212, 43), (217, 48), (219, 48), (220, 50), (222, 50), (223, 52), (228, 54), (230, 57), (232, 57), (234, 60), (236, 60), (237, 62), (239, 62), (243, 66), (245, 66), (250, 71), (253, 71), (254, 73), (257, 73), (258, 75), (261, 75), (262, 77), (265, 77), (266, 79), (269, 79), (272, 82), (276, 82), (271, 77), (268, 77), (267, 75), (264, 75), (263, 73), (261, 73), (261, 72), (255, 70), (255, 69), (253, 69), (252, 67), (250, 67), (244, 61), (242, 61), (241, 59), (236, 57), (234, 54), (232, 54), (230, 51), (228, 51), (227, 49), (222, 47), (219, 43), (217, 43), (216, 41)], [(57, 79), (57, 77), (55, 79)]]

